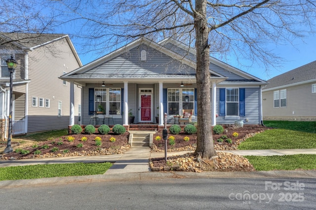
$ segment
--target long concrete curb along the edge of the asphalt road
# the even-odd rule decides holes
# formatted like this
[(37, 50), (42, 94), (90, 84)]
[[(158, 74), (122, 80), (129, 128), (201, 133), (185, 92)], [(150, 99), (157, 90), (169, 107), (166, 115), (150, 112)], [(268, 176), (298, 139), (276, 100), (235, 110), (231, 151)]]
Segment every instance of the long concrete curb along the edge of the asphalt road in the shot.
[(255, 171), (255, 172), (141, 172), (125, 174), (103, 174), (67, 176), (37, 179), (0, 181), (0, 188), (65, 185), (86, 182), (137, 181), (171, 178), (316, 178), (316, 171)]

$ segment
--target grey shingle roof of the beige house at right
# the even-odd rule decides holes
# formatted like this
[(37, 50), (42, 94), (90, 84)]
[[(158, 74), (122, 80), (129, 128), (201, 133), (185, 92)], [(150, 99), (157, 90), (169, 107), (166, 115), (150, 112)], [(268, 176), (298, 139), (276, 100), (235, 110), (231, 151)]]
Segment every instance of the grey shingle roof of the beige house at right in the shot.
[(269, 79), (267, 81), (269, 84), (263, 89), (270, 89), (313, 79), (316, 79), (316, 61)]

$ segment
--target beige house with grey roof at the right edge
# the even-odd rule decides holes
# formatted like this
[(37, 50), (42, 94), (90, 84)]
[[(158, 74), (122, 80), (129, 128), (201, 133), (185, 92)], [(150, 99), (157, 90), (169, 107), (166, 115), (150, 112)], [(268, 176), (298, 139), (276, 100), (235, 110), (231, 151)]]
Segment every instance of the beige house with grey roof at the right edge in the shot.
[(268, 80), (264, 120), (316, 121), (316, 61)]

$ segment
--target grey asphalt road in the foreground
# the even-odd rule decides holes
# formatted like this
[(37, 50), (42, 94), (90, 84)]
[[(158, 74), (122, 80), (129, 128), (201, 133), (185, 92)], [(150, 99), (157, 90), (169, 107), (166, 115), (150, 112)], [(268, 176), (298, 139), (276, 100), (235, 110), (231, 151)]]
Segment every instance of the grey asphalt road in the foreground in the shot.
[(0, 189), (1, 210), (309, 210), (315, 178), (165, 178)]

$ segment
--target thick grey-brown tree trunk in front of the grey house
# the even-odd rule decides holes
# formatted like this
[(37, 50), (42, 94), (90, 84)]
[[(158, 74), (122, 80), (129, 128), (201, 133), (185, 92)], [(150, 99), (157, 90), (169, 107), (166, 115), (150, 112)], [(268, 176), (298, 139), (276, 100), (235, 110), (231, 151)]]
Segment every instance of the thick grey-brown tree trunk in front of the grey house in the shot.
[[(209, 72), (208, 27), (206, 0), (196, 0), (195, 31), (197, 50), (197, 149), (196, 156), (216, 155), (211, 125), (211, 84)], [(215, 108), (215, 107), (213, 107)]]

